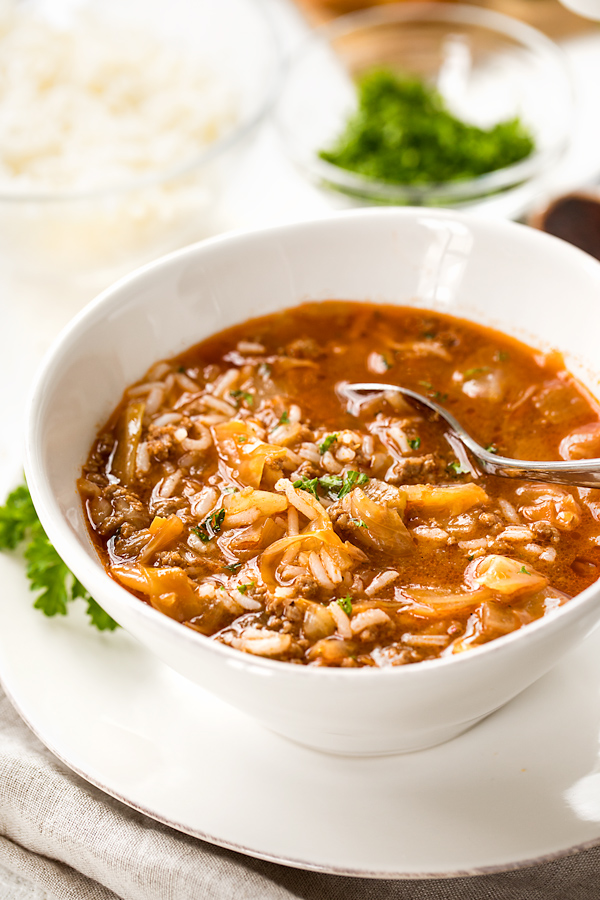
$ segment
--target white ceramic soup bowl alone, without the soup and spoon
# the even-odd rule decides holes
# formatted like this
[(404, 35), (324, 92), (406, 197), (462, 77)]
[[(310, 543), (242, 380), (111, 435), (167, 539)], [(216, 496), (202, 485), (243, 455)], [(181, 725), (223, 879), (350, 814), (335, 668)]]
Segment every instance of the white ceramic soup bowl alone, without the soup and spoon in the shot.
[(106, 575), (75, 481), (126, 385), (233, 323), (305, 299), (423, 306), (558, 347), (598, 388), (600, 265), (525, 226), (448, 211), (358, 210), (188, 247), (121, 280), (54, 345), (29, 409), (26, 473), (51, 541), (98, 602), (178, 672), (273, 730), (373, 754), (448, 740), (547, 672), (600, 620), (600, 586), (457, 658), (389, 669), (261, 659), (161, 615)]

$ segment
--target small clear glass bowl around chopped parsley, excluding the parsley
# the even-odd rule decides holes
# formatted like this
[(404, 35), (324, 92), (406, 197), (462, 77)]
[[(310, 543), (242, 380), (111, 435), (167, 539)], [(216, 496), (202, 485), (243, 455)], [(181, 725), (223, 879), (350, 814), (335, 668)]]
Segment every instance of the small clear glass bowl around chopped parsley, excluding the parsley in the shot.
[[(375, 67), (434, 85), (459, 118), (489, 128), (519, 116), (535, 140), (522, 161), (470, 180), (402, 185), (319, 157), (357, 108), (355, 81)], [(456, 3), (385, 5), (316, 29), (289, 64), (276, 119), (291, 159), (349, 203), (448, 206), (506, 191), (546, 173), (568, 146), (571, 82), (560, 49), (501, 13)]]

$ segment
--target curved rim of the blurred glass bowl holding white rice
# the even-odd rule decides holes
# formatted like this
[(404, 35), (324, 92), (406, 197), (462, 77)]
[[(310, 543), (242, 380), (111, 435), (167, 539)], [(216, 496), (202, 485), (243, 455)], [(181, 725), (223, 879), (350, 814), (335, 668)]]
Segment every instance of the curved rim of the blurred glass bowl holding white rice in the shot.
[(283, 52), (279, 31), (272, 8), (265, 0), (248, 0), (254, 8), (257, 21), (260, 20), (264, 29), (266, 41), (269, 45), (269, 73), (265, 78), (262, 96), (253, 102), (252, 110), (243, 118), (234, 121), (233, 125), (226, 129), (225, 133), (215, 141), (211, 141), (206, 147), (191, 157), (186, 157), (179, 162), (159, 171), (148, 172), (130, 179), (109, 182), (102, 187), (82, 189), (57, 189), (33, 188), (25, 190), (17, 188), (11, 190), (0, 185), (1, 203), (78, 203), (86, 200), (102, 200), (105, 197), (127, 195), (133, 191), (155, 187), (163, 182), (168, 182), (184, 177), (195, 169), (212, 162), (218, 156), (241, 143), (252, 131), (266, 118), (270, 112), (279, 92), (279, 84), (284, 75), (286, 60)]

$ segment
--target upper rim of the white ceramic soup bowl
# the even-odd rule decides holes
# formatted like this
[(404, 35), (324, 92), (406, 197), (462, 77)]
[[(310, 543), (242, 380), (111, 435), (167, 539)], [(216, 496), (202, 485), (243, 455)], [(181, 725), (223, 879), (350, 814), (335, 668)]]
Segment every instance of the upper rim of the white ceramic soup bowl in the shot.
[[(154, 632), (166, 630), (167, 633), (173, 635), (175, 641), (184, 641), (188, 646), (194, 646), (198, 653), (204, 651), (216, 654), (217, 657), (221, 657), (225, 665), (233, 665), (238, 669), (249, 670), (258, 675), (279, 673), (283, 677), (296, 677), (292, 673), (303, 672), (308, 674), (298, 677), (324, 677), (327, 679), (403, 678), (407, 680), (428, 677), (427, 673), (434, 673), (438, 669), (444, 670), (449, 665), (453, 667), (460, 665), (463, 669), (468, 665), (478, 666), (478, 660), (483, 655), (487, 657), (490, 654), (510, 653), (510, 648), (515, 642), (522, 643), (524, 640), (528, 640), (528, 635), (531, 636), (530, 640), (533, 641), (535, 635), (541, 629), (555, 631), (560, 627), (563, 619), (574, 616), (581, 606), (588, 605), (590, 601), (597, 603), (597, 597), (600, 592), (600, 579), (592, 583), (580, 594), (572, 597), (564, 605), (552, 610), (551, 615), (536, 619), (526, 627), (519, 628), (510, 634), (502, 635), (486, 644), (475, 646), (468, 652), (460, 653), (456, 656), (423, 660), (413, 665), (386, 666), (382, 668), (365, 666), (354, 669), (285, 664), (281, 660), (254, 656), (250, 653), (236, 650), (219, 641), (211, 640), (210, 637), (182, 626), (181, 623), (139, 600), (110, 577), (99, 557), (92, 558), (88, 555), (83, 544), (60, 510), (58, 502), (50, 489), (45, 475), (46, 466), (43, 462), (43, 433), (39, 427), (42, 409), (46, 396), (49, 393), (49, 386), (51, 389), (52, 380), (60, 371), (63, 358), (68, 358), (70, 348), (77, 344), (81, 336), (93, 329), (95, 323), (104, 319), (112, 310), (116, 311), (122, 308), (122, 293), (124, 290), (135, 286), (136, 282), (151, 276), (161, 269), (177, 268), (187, 259), (201, 256), (205, 252), (210, 253), (213, 247), (229, 244), (235, 249), (236, 245), (244, 244), (247, 241), (268, 241), (277, 239), (281, 234), (291, 235), (294, 232), (302, 234), (313, 229), (318, 230), (319, 228), (331, 226), (335, 228), (337, 222), (352, 219), (363, 220), (365, 223), (373, 219), (389, 219), (390, 222), (398, 223), (398, 220), (412, 222), (423, 215), (426, 215), (428, 218), (434, 217), (440, 221), (458, 221), (460, 224), (475, 230), (492, 233), (498, 238), (498, 241), (496, 241), (497, 246), (502, 246), (502, 238), (504, 236), (520, 233), (521, 240), (526, 245), (546, 245), (552, 250), (553, 258), (566, 258), (567, 261), (575, 263), (579, 269), (587, 269), (588, 274), (598, 282), (598, 288), (600, 289), (600, 262), (572, 244), (562, 241), (560, 238), (517, 222), (482, 218), (450, 209), (423, 210), (420, 207), (393, 209), (372, 207), (369, 209), (342, 210), (315, 219), (272, 225), (261, 229), (229, 232), (175, 250), (135, 269), (103, 290), (62, 330), (47, 351), (42, 364), (38, 367), (26, 405), (24, 468), (32, 500), (49, 540), (76, 577), (86, 587), (90, 582), (100, 580), (106, 589), (105, 593), (110, 594), (111, 602), (114, 602), (116, 606), (124, 603), (135, 616), (146, 619), (148, 626)], [(73, 484), (73, 489), (77, 498), (76, 502), (80, 503), (79, 494), (75, 490), (75, 483)], [(404, 674), (401, 675), (401, 672)], [(419, 673), (422, 673), (422, 675), (419, 675)]]

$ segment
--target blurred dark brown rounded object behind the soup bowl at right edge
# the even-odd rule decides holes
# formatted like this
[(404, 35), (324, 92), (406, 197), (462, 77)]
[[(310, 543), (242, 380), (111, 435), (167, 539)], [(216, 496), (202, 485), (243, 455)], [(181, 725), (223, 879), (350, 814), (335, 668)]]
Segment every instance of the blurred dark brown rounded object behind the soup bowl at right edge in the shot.
[(539, 213), (531, 224), (600, 260), (599, 199), (587, 194), (566, 194)]

